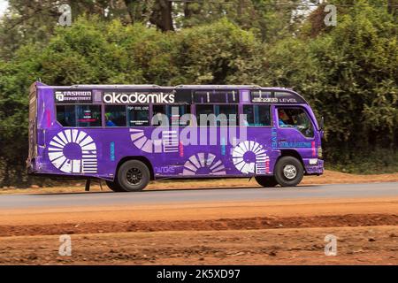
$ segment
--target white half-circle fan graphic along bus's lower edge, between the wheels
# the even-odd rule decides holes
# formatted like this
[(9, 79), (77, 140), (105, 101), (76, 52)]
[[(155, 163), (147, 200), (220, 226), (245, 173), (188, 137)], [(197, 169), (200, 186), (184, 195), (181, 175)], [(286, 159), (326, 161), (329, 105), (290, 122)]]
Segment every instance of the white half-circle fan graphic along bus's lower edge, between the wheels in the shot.
[(188, 158), (184, 164), (183, 175), (210, 174), (225, 175), (226, 167), (211, 153), (198, 153)]

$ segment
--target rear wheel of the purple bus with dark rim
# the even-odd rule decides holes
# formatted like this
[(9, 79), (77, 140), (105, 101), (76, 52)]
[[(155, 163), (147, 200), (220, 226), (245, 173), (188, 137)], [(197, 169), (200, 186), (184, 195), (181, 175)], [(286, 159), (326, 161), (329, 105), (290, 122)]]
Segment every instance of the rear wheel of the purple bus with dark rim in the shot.
[(128, 160), (119, 168), (118, 183), (125, 192), (142, 191), (147, 187), (149, 180), (149, 169), (139, 160)]

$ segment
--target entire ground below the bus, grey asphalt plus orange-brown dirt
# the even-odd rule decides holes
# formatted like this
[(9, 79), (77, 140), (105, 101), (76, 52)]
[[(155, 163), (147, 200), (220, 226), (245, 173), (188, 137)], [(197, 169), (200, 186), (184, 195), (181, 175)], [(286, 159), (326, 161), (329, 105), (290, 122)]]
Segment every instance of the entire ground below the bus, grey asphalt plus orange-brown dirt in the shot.
[(398, 185), (369, 186), (2, 195), (0, 264), (398, 264)]

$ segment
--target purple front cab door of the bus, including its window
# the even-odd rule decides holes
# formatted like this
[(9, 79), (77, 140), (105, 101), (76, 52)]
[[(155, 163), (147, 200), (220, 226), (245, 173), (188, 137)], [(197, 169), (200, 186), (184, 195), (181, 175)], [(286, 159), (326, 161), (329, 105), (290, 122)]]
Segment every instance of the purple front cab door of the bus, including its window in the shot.
[(279, 149), (296, 149), (302, 158), (316, 157), (315, 131), (309, 114), (301, 106), (275, 108)]

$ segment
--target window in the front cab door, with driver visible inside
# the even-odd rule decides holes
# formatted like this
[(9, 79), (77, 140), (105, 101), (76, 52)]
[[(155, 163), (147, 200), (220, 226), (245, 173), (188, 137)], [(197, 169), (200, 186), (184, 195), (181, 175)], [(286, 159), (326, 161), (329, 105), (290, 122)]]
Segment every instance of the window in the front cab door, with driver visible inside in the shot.
[(279, 127), (294, 127), (306, 137), (314, 136), (314, 128), (302, 108), (278, 108)]

